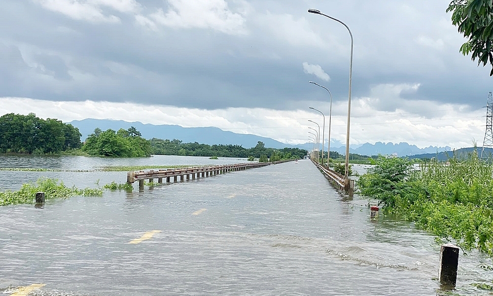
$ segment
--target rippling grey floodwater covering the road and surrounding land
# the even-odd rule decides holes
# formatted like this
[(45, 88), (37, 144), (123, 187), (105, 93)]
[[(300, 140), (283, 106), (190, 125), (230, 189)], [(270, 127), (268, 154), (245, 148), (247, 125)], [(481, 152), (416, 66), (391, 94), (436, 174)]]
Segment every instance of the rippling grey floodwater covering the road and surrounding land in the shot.
[[(239, 162), (0, 157), (4, 167), (70, 170)], [(125, 172), (0, 171), (0, 182), (16, 188), (41, 176), (78, 187), (126, 180)], [(39, 295), (447, 293), (436, 279), (433, 236), (382, 214), (370, 221), (367, 201), (341, 195), (309, 160), (134, 188), (0, 207), (0, 291), (42, 283)], [(472, 285), (492, 284), (481, 263), (492, 265), (478, 252), (461, 252), (453, 293), (488, 295)]]

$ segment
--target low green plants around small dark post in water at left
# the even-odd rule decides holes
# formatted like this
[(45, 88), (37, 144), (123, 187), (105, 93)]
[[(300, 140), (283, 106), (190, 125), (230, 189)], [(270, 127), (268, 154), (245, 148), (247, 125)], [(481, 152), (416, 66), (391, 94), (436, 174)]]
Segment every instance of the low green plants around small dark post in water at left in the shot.
[(39, 179), (35, 184), (23, 184), (17, 191), (0, 192), (0, 206), (15, 204), (32, 204), (35, 201), (36, 192), (44, 192), (46, 199), (69, 198), (71, 196), (100, 196), (101, 189), (77, 189), (75, 186), (67, 187), (56, 179)]

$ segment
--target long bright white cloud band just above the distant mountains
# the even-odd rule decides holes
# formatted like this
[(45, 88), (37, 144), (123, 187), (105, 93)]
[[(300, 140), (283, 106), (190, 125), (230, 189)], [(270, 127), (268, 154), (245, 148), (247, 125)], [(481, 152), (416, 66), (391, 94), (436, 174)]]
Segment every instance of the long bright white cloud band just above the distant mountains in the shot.
[[(484, 110), (470, 110), (467, 105), (439, 104), (432, 101), (406, 101), (419, 105), (424, 114), (406, 109), (378, 110), (378, 98), (353, 98), (351, 145), (375, 142), (407, 142), (424, 148), (450, 146), (470, 147), (474, 139), (483, 139)], [(84, 118), (119, 119), (152, 124), (177, 124), (184, 127), (216, 126), (235, 133), (270, 137), (289, 144), (308, 142), (308, 119), (317, 121), (319, 113), (304, 110), (272, 110), (265, 108), (227, 108), (217, 110), (189, 109), (172, 106), (112, 102), (53, 102), (27, 98), (0, 98), (0, 114), (9, 112), (59, 118), (65, 122)], [(317, 104), (317, 109), (328, 114), (328, 102), (300, 102)], [(347, 102), (335, 101), (332, 107), (332, 143), (346, 141)], [(328, 118), (325, 118), (325, 136)], [(327, 138), (325, 138), (327, 143)]]

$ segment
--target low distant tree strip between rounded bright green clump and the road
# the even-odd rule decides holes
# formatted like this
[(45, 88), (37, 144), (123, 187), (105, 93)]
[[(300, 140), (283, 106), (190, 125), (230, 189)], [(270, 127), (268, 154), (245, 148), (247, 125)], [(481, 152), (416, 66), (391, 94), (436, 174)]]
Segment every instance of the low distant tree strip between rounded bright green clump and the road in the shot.
[[(240, 145), (207, 145), (195, 143), (182, 143), (180, 140), (150, 140), (152, 154), (157, 155), (188, 155), (188, 156), (218, 156), (218, 157), (242, 157), (259, 158), (265, 154), (271, 157), (278, 154), (281, 159), (303, 158), (307, 151), (299, 148), (265, 148), (262, 142), (258, 142), (253, 148), (243, 148)], [(288, 157), (288, 158), (286, 158)]]

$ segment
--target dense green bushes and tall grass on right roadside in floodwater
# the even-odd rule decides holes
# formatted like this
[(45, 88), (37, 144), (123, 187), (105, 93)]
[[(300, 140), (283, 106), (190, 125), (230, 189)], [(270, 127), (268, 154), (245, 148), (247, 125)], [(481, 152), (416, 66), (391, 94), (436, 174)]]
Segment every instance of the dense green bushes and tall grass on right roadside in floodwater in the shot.
[(402, 158), (381, 156), (374, 164), (356, 183), (360, 195), (463, 250), (493, 256), (492, 162), (473, 152), (462, 160), (423, 162), (419, 170)]

